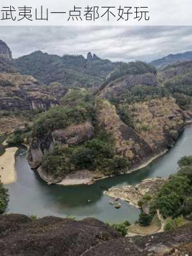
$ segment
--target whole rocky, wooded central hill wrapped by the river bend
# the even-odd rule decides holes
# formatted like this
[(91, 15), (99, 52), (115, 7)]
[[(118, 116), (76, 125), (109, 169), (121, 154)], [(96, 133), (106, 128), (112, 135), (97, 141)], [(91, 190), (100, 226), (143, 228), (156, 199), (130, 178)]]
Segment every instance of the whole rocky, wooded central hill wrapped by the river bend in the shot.
[(123, 65), (111, 73), (95, 95), (84, 88), (69, 90), (60, 107), (39, 116), (31, 131), (29, 164), (42, 179), (91, 182), (131, 172), (172, 147), (184, 129), (185, 113), (159, 84), (156, 70), (134, 65), (137, 72)]

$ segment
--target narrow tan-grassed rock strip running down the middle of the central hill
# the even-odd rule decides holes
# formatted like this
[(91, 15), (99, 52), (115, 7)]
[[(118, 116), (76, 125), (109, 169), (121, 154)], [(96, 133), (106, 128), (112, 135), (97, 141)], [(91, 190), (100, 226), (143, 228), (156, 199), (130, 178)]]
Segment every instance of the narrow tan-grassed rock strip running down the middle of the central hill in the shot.
[(116, 113), (116, 108), (108, 100), (100, 100), (97, 105), (99, 124), (115, 138), (116, 154), (127, 157), (133, 165), (151, 156), (152, 150), (138, 134), (124, 124)]

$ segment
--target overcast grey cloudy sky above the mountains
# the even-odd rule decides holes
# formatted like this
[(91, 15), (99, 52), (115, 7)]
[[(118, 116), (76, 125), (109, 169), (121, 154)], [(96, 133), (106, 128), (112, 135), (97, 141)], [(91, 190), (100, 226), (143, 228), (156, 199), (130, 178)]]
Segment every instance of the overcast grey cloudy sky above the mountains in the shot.
[(0, 26), (0, 35), (13, 58), (37, 50), (60, 56), (90, 51), (112, 61), (151, 61), (192, 50), (192, 26)]

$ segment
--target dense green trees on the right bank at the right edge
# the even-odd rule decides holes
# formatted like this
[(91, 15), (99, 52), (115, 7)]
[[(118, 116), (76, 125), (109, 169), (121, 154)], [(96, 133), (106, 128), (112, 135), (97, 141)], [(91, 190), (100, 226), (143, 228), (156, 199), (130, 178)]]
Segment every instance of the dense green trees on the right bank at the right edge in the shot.
[[(192, 157), (182, 157), (179, 160), (179, 171), (170, 175), (168, 181), (152, 197), (145, 196), (140, 201), (141, 205), (149, 205), (150, 216), (159, 209), (164, 218), (178, 218), (184, 216), (191, 220), (192, 212)], [(145, 216), (147, 218), (147, 216)], [(143, 220), (143, 213), (140, 214), (140, 222)], [(177, 221), (176, 221), (177, 222)]]

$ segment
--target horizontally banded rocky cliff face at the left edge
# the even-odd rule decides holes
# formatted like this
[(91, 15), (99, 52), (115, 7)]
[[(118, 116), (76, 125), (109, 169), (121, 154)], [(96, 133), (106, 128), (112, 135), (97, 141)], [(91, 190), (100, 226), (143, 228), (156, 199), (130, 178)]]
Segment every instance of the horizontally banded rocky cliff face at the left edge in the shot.
[(49, 109), (59, 104), (58, 90), (61, 98), (65, 90), (60, 85), (50, 88), (31, 76), (22, 76), (17, 72), (0, 72), (0, 109)]

